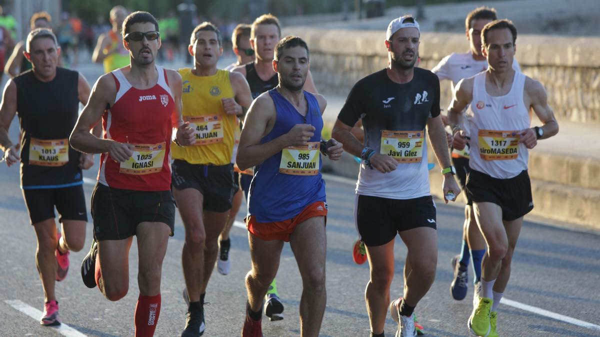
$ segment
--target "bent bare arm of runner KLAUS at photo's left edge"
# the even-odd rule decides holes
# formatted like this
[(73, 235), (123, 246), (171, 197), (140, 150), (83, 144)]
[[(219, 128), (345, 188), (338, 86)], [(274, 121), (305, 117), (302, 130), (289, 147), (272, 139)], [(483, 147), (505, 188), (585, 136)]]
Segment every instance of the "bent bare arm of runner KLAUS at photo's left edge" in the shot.
[(8, 80), (4, 87), (0, 104), (0, 148), (4, 151), (4, 159), (8, 166), (18, 163), (20, 158), (19, 143), (13, 144), (8, 137), (8, 129), (17, 113), (17, 85)]

